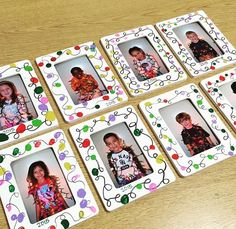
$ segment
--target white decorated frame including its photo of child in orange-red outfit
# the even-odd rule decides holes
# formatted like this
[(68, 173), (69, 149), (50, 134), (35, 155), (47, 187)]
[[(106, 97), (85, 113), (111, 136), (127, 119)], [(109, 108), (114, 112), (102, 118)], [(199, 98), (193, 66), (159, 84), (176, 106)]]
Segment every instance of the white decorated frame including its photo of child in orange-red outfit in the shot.
[(94, 42), (38, 57), (36, 62), (66, 122), (127, 100)]

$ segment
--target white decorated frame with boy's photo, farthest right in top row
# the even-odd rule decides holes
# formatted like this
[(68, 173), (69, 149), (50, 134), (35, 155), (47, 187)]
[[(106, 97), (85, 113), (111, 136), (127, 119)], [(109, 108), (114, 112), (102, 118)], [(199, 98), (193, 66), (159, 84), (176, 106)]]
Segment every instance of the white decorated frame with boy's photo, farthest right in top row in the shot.
[(193, 76), (236, 61), (236, 50), (202, 10), (158, 22), (157, 29)]

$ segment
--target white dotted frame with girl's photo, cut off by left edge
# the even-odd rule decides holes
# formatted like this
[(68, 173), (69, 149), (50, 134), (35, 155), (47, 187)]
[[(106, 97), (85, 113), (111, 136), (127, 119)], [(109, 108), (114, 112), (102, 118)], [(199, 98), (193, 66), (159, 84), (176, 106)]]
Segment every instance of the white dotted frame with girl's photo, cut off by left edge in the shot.
[(29, 60), (0, 67), (0, 146), (58, 125)]

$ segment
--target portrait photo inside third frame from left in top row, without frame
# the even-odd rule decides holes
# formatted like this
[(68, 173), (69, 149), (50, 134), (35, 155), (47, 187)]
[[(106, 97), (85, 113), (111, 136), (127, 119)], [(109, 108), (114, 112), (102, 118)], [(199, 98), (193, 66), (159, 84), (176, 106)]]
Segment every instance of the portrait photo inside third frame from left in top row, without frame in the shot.
[(139, 81), (169, 72), (158, 53), (145, 37), (120, 43), (118, 47)]

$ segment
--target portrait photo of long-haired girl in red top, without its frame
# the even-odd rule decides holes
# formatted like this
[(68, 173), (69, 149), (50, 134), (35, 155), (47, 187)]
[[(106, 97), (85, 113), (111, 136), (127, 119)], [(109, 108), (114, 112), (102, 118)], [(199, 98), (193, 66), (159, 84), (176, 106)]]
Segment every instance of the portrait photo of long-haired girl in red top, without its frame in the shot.
[(75, 204), (52, 148), (13, 161), (11, 167), (32, 224)]

